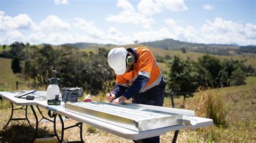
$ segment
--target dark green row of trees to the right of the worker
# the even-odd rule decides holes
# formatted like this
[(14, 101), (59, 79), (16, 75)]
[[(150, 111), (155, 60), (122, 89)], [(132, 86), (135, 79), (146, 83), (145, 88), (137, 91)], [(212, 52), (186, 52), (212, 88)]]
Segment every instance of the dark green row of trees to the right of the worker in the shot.
[(181, 60), (174, 56), (165, 61), (169, 71), (166, 93), (171, 95), (193, 96), (198, 87), (228, 87), (245, 84), (246, 76), (255, 76), (252, 66), (245, 66), (237, 60), (223, 60), (215, 56), (204, 55), (197, 61)]

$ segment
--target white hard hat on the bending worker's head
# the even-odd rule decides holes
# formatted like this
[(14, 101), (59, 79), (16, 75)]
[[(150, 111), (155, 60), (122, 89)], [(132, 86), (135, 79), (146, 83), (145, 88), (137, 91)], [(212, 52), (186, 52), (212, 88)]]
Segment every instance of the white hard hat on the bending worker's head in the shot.
[(114, 73), (122, 75), (126, 70), (126, 55), (127, 51), (124, 47), (113, 48), (107, 55), (107, 62), (109, 66), (114, 69)]

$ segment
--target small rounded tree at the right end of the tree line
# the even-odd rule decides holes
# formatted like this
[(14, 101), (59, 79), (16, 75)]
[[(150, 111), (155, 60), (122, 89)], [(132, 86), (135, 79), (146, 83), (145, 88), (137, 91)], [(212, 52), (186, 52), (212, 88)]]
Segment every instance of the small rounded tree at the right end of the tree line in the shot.
[(241, 70), (241, 68), (237, 68), (232, 72), (231, 84), (232, 85), (245, 84), (245, 73), (244, 71)]

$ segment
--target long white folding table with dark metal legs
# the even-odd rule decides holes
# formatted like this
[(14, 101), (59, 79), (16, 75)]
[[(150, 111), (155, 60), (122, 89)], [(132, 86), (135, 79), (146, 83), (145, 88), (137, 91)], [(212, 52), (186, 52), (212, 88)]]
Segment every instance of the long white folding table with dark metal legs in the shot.
[[(9, 95), (8, 95), (9, 94)], [(87, 124), (87, 125), (91, 125), (94, 126), (96, 128), (99, 128), (100, 130), (118, 135), (119, 137), (125, 138), (125, 139), (130, 139), (130, 140), (134, 140), (134, 142), (140, 142), (142, 141), (142, 139), (144, 138), (150, 138), (150, 137), (155, 137), (157, 135), (161, 135), (161, 134), (165, 134), (166, 132), (170, 132), (170, 131), (175, 131), (174, 133), (174, 137), (173, 137), (173, 141), (172, 142), (176, 142), (177, 141), (177, 137), (178, 137), (178, 133), (179, 130), (182, 130), (184, 128), (199, 128), (199, 127), (206, 127), (206, 126), (211, 126), (213, 125), (213, 120), (212, 119), (207, 119), (207, 118), (200, 118), (200, 117), (193, 117), (193, 115), (189, 115), (189, 113), (185, 113), (186, 116), (190, 116), (195, 118), (196, 120), (198, 120), (198, 124), (193, 126), (193, 125), (175, 125), (175, 126), (169, 126), (169, 127), (163, 127), (163, 128), (158, 128), (155, 130), (149, 130), (149, 131), (143, 131), (143, 132), (136, 132), (136, 131), (132, 131), (129, 130), (127, 128), (124, 127), (120, 127), (120, 126), (116, 126), (113, 124), (109, 124), (109, 123), (105, 123), (104, 121), (100, 121), (100, 120), (96, 120), (93, 118), (89, 118), (86, 116), (82, 116), (82, 115), (77, 115), (76, 113), (70, 112), (70, 111), (66, 111), (64, 106), (54, 106), (54, 105), (48, 105), (46, 101), (26, 101), (26, 99), (19, 99), (19, 98), (15, 98), (15, 94), (10, 95), (10, 92), (0, 92), (0, 96), (2, 96), (3, 98), (7, 99), (8, 101), (16, 105), (26, 105), (26, 110), (27, 110), (27, 106), (30, 105), (31, 110), (36, 118), (36, 130), (38, 131), (38, 124), (39, 122), (44, 118), (46, 119), (43, 115), (42, 112), (39, 110), (38, 107), (41, 107), (43, 109), (46, 110), (50, 110), (54, 112), (54, 119), (53, 119), (53, 129), (55, 131), (55, 133), (53, 134), (53, 136), (56, 135), (58, 141), (63, 141), (63, 136), (64, 136), (64, 130), (67, 130), (69, 128), (72, 127), (79, 127), (80, 128), (80, 140), (81, 142), (83, 142), (83, 138), (82, 138), (82, 128), (83, 128), (83, 123)], [(130, 103), (127, 103), (127, 105), (129, 105)], [(42, 119), (38, 121), (37, 115), (35, 110), (33, 109), (32, 105), (36, 105), (37, 109), (39, 110), (39, 113), (42, 115)], [(134, 105), (134, 106), (144, 106), (144, 105)], [(151, 106), (147, 105), (146, 106), (147, 109), (150, 109)], [(155, 108), (155, 106), (152, 106), (152, 108)], [(12, 114), (13, 111), (16, 109), (12, 108)], [(180, 112), (180, 109), (171, 109), (171, 108), (163, 108), (163, 110), (172, 110), (173, 112)], [(184, 111), (186, 112), (186, 111)], [(59, 138), (58, 134), (56, 133), (56, 117), (57, 115), (59, 116), (60, 122), (62, 124), (62, 137)], [(62, 119), (62, 116), (73, 119), (78, 121), (78, 123), (76, 125), (73, 126), (69, 126), (69, 127), (64, 127), (64, 121)], [(26, 117), (26, 119), (28, 119)], [(16, 119), (10, 119), (10, 120), (16, 120)], [(10, 122), (10, 120), (8, 121), (8, 124)], [(47, 119), (46, 119), (47, 120)], [(6, 124), (5, 126), (7, 126), (8, 124)], [(37, 131), (35, 133), (35, 136), (33, 138), (33, 140), (35, 140), (36, 138), (39, 138), (40, 136), (37, 136)], [(44, 136), (45, 137), (45, 136)], [(48, 136), (49, 137), (49, 136)]]

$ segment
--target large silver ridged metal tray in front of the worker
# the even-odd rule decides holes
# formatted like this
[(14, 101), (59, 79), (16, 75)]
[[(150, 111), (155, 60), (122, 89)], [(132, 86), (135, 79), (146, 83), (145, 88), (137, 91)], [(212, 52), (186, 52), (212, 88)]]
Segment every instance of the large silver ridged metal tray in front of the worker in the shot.
[(65, 110), (138, 132), (183, 124), (179, 114), (105, 102), (65, 103)]

